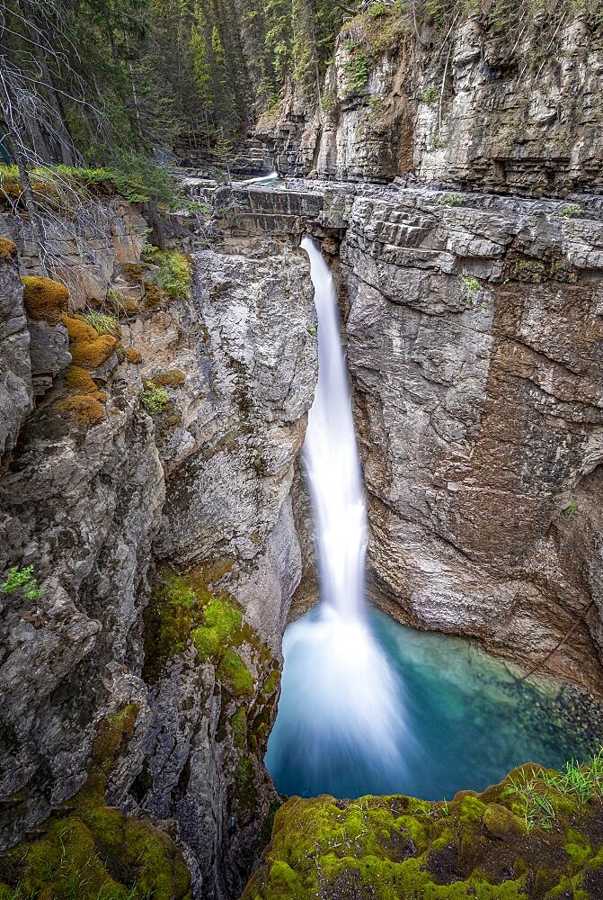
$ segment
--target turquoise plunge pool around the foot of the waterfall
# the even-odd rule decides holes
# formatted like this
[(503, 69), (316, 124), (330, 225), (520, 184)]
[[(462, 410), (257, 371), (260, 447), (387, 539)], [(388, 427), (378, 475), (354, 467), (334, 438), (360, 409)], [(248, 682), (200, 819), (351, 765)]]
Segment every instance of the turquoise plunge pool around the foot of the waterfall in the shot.
[(585, 759), (603, 742), (600, 708), (571, 682), (519, 681), (505, 662), (465, 638), (416, 631), (369, 610), (367, 625), (394, 672), (404, 710), (396, 735), (403, 764), (371, 766), (341, 747), (328, 716), (316, 721), (320, 707), (311, 711), (313, 726), (304, 725), (299, 681), (307, 677), (306, 648), (296, 633), (318, 615), (311, 610), (285, 635), (279, 713), (265, 758), (282, 794), (451, 799), (458, 790), (481, 791), (528, 761), (559, 768)]

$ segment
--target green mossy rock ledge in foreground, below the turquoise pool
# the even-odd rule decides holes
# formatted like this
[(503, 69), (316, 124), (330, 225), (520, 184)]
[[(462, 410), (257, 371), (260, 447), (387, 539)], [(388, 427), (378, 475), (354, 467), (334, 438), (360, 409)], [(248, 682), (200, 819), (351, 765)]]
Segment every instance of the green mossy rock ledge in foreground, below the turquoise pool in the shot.
[[(294, 797), (275, 817), (244, 900), (601, 898), (600, 789), (587, 798), (547, 777), (526, 767), (450, 803)], [(533, 804), (538, 791), (552, 816)]]

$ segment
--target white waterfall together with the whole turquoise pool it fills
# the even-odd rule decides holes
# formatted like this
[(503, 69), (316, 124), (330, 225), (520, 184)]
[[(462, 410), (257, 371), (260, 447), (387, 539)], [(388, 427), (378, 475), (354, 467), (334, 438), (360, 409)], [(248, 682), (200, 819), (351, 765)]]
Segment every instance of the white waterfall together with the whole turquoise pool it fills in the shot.
[(365, 608), (367, 514), (333, 284), (312, 241), (302, 246), (318, 312), (320, 368), (304, 459), (321, 600), (283, 640), (265, 758), (277, 789), (437, 800), (483, 790), (527, 760), (556, 768), (586, 758), (603, 742), (600, 710), (571, 685), (518, 682), (467, 641)]

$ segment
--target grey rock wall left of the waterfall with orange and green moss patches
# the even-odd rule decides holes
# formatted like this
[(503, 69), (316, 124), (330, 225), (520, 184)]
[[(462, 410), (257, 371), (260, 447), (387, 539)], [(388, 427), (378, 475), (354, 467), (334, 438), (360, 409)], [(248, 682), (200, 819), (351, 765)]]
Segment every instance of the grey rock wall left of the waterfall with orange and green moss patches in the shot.
[[(316, 378), (312, 288), (304, 254), (243, 242), (174, 258), (194, 284), (171, 296), (154, 281), (164, 257), (128, 246), (106, 266), (129, 303), (119, 341), (59, 309), (30, 320), (30, 343), (16, 266), (0, 273), (0, 575), (31, 565), (37, 581), (0, 593), (2, 841), (82, 796), (95, 735), (135, 709), (105, 802), (178, 838), (195, 896), (232, 897), (275, 797), (262, 755), (301, 575), (289, 488)], [(77, 284), (87, 265), (70, 261)], [(25, 419), (32, 367), (47, 383)], [(181, 588), (158, 619), (168, 570)]]

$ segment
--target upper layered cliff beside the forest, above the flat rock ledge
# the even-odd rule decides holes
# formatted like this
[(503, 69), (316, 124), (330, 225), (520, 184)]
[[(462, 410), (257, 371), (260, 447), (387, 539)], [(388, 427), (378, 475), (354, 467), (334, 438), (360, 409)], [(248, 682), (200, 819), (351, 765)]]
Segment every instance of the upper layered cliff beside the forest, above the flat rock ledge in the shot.
[[(374, 7), (371, 7), (373, 9)], [(395, 7), (392, 7), (395, 9)], [(288, 92), (263, 127), (282, 173), (565, 196), (601, 187), (599, 26), (574, 16), (518, 31), (457, 16), (450, 31), (410, 14), (344, 26), (321, 109)]]

